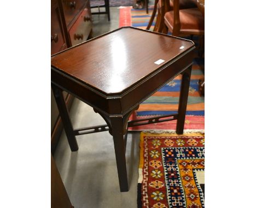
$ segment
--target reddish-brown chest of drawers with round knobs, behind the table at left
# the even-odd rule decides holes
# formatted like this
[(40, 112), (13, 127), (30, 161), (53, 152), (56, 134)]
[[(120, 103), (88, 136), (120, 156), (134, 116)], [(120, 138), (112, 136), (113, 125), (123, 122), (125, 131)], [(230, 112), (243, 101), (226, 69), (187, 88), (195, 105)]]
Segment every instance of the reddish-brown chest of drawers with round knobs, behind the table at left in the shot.
[[(51, 0), (51, 54), (89, 38), (92, 29), (89, 0)], [(63, 92), (68, 109), (73, 96)], [(63, 126), (51, 92), (51, 152), (54, 152)]]

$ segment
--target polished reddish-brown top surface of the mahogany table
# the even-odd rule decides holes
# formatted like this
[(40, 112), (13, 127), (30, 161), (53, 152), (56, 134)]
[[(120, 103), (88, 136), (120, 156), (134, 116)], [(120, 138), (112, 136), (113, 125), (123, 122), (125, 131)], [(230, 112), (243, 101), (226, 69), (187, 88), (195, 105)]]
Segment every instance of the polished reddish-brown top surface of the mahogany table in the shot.
[[(125, 91), (194, 44), (126, 27), (51, 57), (51, 65), (104, 94)], [(161, 64), (155, 64), (159, 59)]]

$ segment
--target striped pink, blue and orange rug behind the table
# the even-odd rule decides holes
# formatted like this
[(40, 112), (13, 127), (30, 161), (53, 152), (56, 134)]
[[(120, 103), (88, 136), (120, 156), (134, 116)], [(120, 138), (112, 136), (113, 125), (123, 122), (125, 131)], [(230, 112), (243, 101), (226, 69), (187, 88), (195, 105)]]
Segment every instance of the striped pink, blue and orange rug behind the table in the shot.
[[(153, 5), (149, 8), (149, 14), (146, 13), (145, 9), (132, 9), (131, 7), (120, 9), (119, 26), (146, 29), (152, 11)], [(153, 27), (150, 30), (153, 30)], [(190, 36), (184, 38), (190, 39)], [(193, 41), (197, 44), (198, 37), (194, 36)], [(184, 129), (205, 129), (205, 99), (199, 94), (198, 84), (199, 79), (204, 77), (204, 66), (204, 59), (198, 57), (194, 59)], [(143, 119), (155, 115), (177, 113), (180, 86), (181, 76), (178, 76), (144, 101), (130, 119)], [(149, 129), (174, 130), (176, 129), (176, 120), (129, 128), (129, 130), (138, 131)]]

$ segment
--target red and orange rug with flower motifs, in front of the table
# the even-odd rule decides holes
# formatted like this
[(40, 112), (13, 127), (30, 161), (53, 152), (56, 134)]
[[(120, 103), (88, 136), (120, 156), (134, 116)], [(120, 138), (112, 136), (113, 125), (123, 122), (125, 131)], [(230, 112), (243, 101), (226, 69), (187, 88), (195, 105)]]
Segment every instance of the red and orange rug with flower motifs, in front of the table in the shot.
[(205, 207), (205, 137), (142, 132), (138, 208)]

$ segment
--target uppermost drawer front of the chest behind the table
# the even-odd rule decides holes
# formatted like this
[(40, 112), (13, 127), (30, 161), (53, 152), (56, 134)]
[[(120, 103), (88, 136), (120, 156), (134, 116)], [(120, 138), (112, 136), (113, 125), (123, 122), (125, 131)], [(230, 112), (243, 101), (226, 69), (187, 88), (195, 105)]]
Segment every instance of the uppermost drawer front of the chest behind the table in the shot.
[(89, 0), (62, 0), (65, 20), (68, 27), (72, 20), (75, 19), (75, 16), (83, 9), (86, 1)]

